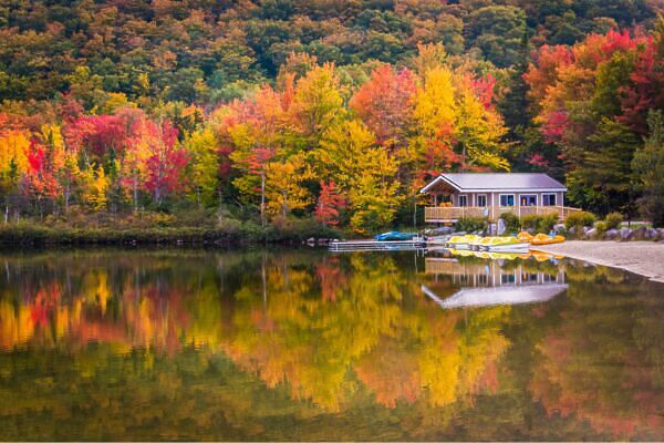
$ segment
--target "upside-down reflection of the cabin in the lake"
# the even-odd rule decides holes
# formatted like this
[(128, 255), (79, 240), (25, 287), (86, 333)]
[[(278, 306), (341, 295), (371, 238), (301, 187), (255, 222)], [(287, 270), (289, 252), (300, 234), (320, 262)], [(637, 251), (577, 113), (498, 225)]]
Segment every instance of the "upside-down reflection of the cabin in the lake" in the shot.
[(567, 289), (564, 272), (532, 269), (525, 261), (461, 262), (453, 258), (426, 258), (425, 272), (433, 277), (422, 291), (445, 309), (544, 302)]

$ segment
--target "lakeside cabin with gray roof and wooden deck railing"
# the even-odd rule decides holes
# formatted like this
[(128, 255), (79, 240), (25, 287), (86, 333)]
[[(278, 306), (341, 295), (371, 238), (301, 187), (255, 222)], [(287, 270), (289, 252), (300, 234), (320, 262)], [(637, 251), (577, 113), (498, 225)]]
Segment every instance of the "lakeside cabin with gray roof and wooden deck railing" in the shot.
[(496, 220), (504, 213), (558, 214), (561, 220), (580, 209), (564, 206), (567, 187), (539, 173), (440, 174), (419, 193), (430, 196), (426, 223), (454, 223), (464, 217)]

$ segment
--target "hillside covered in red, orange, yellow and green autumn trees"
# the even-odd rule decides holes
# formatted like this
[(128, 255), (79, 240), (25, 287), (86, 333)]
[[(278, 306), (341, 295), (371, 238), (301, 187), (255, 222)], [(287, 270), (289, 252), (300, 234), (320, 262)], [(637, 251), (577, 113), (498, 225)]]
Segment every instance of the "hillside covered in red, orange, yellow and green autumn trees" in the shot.
[(543, 171), (575, 206), (662, 225), (662, 10), (0, 1), (4, 220), (197, 210), (370, 233), (412, 224), (437, 173)]

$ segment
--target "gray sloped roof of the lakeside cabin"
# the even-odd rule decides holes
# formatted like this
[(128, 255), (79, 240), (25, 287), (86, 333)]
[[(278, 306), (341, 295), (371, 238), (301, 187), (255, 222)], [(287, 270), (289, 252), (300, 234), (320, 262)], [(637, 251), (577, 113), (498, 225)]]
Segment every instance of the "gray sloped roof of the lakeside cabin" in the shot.
[(560, 182), (540, 173), (464, 173), (440, 174), (419, 192), (426, 193), (439, 183), (460, 192), (551, 190), (564, 192)]

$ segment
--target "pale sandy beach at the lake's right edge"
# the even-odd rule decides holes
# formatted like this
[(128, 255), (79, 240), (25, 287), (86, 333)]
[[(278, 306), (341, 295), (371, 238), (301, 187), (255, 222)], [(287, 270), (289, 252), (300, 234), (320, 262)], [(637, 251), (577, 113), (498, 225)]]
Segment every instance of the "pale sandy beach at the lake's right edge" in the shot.
[(664, 282), (664, 244), (652, 241), (566, 241), (538, 250), (621, 268)]

